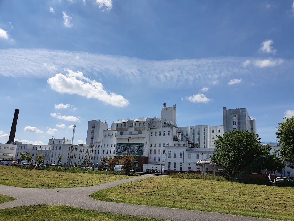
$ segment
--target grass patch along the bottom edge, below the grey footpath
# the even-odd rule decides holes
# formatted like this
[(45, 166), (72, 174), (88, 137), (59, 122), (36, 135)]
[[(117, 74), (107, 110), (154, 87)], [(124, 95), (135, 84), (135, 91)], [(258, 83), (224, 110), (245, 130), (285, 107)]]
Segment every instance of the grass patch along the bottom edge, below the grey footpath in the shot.
[(0, 220), (9, 221), (160, 221), (108, 212), (83, 210), (67, 206), (21, 206), (0, 210)]

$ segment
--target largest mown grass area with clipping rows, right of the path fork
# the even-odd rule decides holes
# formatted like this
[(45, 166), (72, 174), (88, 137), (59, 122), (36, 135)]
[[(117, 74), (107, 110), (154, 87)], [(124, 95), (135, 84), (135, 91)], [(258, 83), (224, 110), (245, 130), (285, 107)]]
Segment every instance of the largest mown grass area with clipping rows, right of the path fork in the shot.
[(211, 180), (148, 177), (96, 192), (91, 197), (108, 202), (294, 220), (294, 188), (228, 181), (213, 184)]

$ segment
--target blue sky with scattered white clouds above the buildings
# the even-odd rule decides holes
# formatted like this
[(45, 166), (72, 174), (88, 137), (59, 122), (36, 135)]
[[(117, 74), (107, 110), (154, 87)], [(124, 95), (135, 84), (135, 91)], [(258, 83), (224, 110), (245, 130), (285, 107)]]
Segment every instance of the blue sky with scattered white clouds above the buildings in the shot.
[(246, 108), (262, 141), (294, 115), (294, 1), (0, 0), (0, 143), (86, 141), (89, 120), (223, 125)]

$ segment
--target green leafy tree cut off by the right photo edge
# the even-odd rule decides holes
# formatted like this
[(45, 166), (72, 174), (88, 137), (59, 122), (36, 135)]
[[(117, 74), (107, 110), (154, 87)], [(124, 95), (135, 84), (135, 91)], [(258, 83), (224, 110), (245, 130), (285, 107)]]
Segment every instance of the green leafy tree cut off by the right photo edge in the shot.
[(294, 116), (283, 119), (285, 119), (285, 122), (279, 123), (276, 134), (281, 145), (282, 159), (291, 162), (290, 167), (294, 169)]

